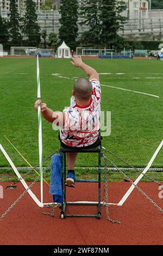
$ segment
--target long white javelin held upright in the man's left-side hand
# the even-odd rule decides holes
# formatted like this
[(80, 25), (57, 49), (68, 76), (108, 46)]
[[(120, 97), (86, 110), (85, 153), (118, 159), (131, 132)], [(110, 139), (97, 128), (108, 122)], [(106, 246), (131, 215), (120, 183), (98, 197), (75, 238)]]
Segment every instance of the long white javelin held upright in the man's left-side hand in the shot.
[[(37, 54), (37, 100), (41, 99), (40, 92), (40, 68), (39, 56)], [(41, 105), (38, 106), (38, 121), (39, 121), (39, 166), (40, 166), (40, 189), (41, 189), (41, 204), (43, 204), (43, 174), (42, 174), (42, 121), (41, 121)]]

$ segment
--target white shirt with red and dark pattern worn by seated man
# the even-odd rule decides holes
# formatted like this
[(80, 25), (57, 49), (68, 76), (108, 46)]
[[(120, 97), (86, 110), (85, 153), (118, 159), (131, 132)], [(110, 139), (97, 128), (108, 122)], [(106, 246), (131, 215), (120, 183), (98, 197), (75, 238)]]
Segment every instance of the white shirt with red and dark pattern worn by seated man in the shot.
[(97, 141), (101, 113), (101, 87), (91, 79), (92, 96), (89, 105), (78, 106), (71, 97), (70, 107), (65, 108), (65, 126), (60, 130), (62, 143), (69, 147), (87, 147)]

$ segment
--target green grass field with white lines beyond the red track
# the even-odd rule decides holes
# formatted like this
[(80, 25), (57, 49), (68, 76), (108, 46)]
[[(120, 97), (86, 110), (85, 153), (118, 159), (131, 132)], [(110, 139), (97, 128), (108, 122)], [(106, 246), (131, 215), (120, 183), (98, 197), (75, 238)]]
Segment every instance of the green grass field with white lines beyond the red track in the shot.
[[(101, 84), (159, 96), (102, 86), (102, 111), (111, 111), (111, 135), (103, 138), (104, 147), (136, 167), (145, 167), (163, 138), (163, 63), (147, 59), (86, 59), (84, 62), (99, 73), (111, 73), (100, 76)], [(53, 110), (62, 111), (70, 105), (73, 80), (52, 76), (53, 73), (70, 78), (85, 74), (74, 68), (70, 60), (40, 59), (42, 100)], [(0, 58), (0, 143), (16, 166), (27, 164), (3, 135), (33, 166), (39, 162), (36, 94), (36, 59)], [(42, 132), (43, 157), (46, 157), (59, 148), (58, 132), (46, 120)], [(163, 149), (152, 167), (162, 167), (162, 157)], [(124, 167), (121, 162), (116, 163)], [(97, 157), (80, 154), (77, 166), (97, 166)], [(1, 151), (0, 167), (9, 167)]]

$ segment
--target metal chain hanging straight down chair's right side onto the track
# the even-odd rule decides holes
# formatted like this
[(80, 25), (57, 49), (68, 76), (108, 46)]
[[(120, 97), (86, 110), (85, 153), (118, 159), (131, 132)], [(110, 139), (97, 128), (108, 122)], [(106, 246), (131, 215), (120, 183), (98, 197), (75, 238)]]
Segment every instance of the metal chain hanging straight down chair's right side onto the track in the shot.
[(109, 204), (108, 204), (108, 172), (107, 172), (107, 159), (104, 156), (104, 162), (105, 162), (105, 167), (104, 167), (104, 199), (103, 199), (103, 206), (106, 207), (106, 217), (107, 220), (112, 222), (112, 223), (117, 223), (117, 224), (121, 224), (120, 221), (114, 221), (111, 220), (111, 218), (109, 217)]

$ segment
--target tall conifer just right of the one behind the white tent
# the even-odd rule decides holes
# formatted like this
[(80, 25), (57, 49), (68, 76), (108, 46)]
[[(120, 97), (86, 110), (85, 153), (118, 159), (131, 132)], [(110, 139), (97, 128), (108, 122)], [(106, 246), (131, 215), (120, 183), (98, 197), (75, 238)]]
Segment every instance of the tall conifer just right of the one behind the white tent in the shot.
[(99, 20), (99, 1), (98, 0), (84, 0), (80, 7), (80, 15), (83, 21), (80, 25), (89, 27), (82, 35), (83, 45), (96, 46), (100, 42), (100, 20)]

